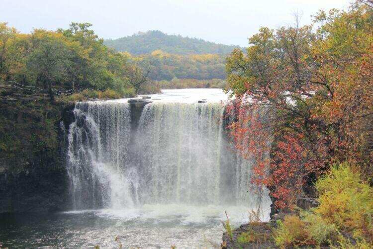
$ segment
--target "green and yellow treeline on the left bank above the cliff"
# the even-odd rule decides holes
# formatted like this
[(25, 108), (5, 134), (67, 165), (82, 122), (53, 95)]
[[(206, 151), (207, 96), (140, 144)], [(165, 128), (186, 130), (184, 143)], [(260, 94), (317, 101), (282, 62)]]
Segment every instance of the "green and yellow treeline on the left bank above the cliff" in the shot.
[(139, 82), (133, 80), (142, 79), (144, 70), (104, 46), (91, 26), (73, 22), (69, 29), (34, 29), (22, 34), (0, 23), (0, 81), (43, 89), (92, 88), (110, 89), (119, 96), (135, 94), (138, 89), (133, 86)]

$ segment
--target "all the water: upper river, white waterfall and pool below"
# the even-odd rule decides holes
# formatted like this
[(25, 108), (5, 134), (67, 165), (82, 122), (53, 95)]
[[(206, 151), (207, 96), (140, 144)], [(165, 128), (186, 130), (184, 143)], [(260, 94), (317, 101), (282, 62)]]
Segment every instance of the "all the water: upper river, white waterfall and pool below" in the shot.
[(255, 162), (240, 158), (225, 132), (229, 96), (149, 96), (136, 128), (128, 99), (76, 104), (66, 134), (71, 210), (3, 215), (0, 247), (213, 248), (225, 211), (234, 227), (253, 210), (269, 220), (268, 190), (251, 182)]

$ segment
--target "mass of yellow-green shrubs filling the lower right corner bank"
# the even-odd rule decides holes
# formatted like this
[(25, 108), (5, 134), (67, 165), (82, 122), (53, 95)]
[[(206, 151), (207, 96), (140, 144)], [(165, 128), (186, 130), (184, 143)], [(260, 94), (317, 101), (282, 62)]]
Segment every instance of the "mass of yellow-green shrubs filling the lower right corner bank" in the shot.
[[(354, 166), (336, 164), (315, 184), (319, 206), (285, 216), (274, 229), (277, 246), (328, 244), (337, 248), (373, 248), (373, 187)], [(343, 236), (348, 233), (356, 243)]]

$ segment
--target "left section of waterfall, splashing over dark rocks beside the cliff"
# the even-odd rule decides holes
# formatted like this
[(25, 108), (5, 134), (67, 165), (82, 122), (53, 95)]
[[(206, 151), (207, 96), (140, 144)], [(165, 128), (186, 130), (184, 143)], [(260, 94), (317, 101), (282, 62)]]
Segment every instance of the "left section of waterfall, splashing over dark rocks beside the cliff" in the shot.
[[(126, 168), (129, 105), (77, 103), (68, 135), (68, 173), (75, 209), (132, 206)], [(137, 180), (136, 180), (137, 182)]]

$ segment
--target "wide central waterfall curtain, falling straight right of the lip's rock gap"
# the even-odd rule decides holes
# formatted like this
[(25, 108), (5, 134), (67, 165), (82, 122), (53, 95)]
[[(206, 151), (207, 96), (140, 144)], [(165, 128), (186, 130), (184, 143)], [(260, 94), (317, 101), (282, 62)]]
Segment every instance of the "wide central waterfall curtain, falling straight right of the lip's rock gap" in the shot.
[(138, 131), (145, 203), (219, 202), (219, 104), (149, 104)]

